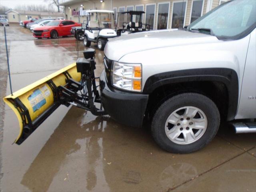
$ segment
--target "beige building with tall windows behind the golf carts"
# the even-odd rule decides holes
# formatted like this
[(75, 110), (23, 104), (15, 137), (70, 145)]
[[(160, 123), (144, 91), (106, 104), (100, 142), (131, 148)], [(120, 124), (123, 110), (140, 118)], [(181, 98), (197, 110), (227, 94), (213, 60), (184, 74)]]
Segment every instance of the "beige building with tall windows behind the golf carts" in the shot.
[[(182, 28), (228, 0), (68, 0), (64, 6), (68, 20), (83, 22), (82, 10), (105, 9), (114, 12), (144, 10), (142, 23), (151, 29)], [(117, 16), (117, 14), (116, 14)], [(129, 16), (120, 16), (118, 26), (128, 21)]]

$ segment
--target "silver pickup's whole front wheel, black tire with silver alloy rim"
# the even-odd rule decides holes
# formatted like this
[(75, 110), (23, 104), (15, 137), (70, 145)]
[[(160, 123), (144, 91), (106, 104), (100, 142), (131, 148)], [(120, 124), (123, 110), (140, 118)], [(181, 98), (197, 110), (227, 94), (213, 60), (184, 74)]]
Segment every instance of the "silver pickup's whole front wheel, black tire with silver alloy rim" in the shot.
[(156, 143), (174, 153), (203, 148), (216, 135), (220, 113), (210, 98), (184, 93), (167, 99), (154, 114), (151, 132)]

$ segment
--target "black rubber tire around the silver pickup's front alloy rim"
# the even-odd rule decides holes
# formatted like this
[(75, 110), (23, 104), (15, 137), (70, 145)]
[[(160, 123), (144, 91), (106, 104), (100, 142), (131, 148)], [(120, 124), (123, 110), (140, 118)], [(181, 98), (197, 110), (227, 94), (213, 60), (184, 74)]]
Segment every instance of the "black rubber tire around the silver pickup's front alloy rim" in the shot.
[[(194, 106), (204, 112), (207, 117), (207, 128), (202, 137), (190, 144), (172, 142), (165, 133), (165, 123), (169, 115), (175, 110)], [(166, 100), (156, 110), (152, 119), (151, 132), (156, 143), (164, 150), (173, 153), (191, 153), (203, 148), (218, 132), (220, 113), (216, 104), (208, 97), (197, 93), (184, 93)]]

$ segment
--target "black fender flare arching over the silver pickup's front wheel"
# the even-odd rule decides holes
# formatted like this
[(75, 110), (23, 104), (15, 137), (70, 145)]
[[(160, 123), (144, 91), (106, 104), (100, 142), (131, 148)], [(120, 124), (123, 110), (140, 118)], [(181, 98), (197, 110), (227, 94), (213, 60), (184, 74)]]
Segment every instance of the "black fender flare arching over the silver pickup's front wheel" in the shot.
[(143, 93), (150, 94), (156, 88), (167, 84), (195, 81), (224, 83), (228, 90), (227, 119), (234, 119), (238, 107), (239, 85), (237, 73), (229, 68), (200, 68), (155, 74), (146, 80)]

